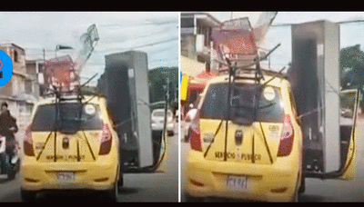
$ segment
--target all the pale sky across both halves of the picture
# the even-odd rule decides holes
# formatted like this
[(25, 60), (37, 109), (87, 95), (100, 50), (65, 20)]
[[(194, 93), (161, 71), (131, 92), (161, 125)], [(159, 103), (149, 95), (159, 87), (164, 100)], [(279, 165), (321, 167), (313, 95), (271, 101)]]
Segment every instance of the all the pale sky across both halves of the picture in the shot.
[[(260, 12), (209, 12), (221, 22), (248, 16), (257, 24)], [(81, 81), (105, 70), (105, 55), (131, 49), (146, 52), (148, 68), (178, 65), (179, 12), (0, 12), (0, 43), (14, 43), (25, 48), (26, 59), (55, 57), (57, 44), (72, 46), (58, 56), (76, 57), (79, 38), (93, 24), (100, 37), (94, 53), (84, 67)], [(278, 12), (273, 25), (298, 24), (326, 19), (332, 22), (364, 20), (364, 12)], [(364, 23), (340, 25), (340, 48), (360, 44), (364, 50)], [(287, 65), (291, 60), (290, 26), (271, 26), (263, 47), (281, 44), (271, 54), (272, 65)]]

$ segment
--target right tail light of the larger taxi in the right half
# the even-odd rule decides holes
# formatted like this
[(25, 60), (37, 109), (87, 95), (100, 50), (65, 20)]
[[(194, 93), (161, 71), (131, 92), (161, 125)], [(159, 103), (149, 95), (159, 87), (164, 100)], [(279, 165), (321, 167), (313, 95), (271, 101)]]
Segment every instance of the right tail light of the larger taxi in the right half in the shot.
[(282, 133), (280, 134), (280, 142), (277, 156), (288, 156), (293, 147), (293, 125), (290, 116), (284, 116)]

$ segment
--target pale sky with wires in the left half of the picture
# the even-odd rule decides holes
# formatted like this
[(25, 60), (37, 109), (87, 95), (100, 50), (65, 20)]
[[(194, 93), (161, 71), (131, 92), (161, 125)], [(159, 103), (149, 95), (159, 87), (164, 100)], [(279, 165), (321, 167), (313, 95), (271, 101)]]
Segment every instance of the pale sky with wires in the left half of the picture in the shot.
[[(105, 70), (105, 55), (134, 49), (146, 52), (148, 68), (178, 66), (177, 12), (0, 12), (0, 43), (25, 49), (27, 60), (70, 54), (76, 59), (79, 38), (96, 24), (99, 41), (82, 70), (81, 82)], [(60, 50), (56, 45), (72, 46)]]

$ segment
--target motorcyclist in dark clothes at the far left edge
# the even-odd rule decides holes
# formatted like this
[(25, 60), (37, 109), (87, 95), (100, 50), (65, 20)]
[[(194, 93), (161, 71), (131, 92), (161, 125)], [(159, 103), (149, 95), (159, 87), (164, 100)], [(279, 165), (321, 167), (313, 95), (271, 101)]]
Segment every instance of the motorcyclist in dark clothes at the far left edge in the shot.
[(3, 102), (1, 104), (0, 113), (0, 135), (6, 138), (5, 152), (9, 155), (11, 163), (15, 163), (16, 156), (14, 156), (15, 150), (15, 133), (17, 133), (18, 127), (16, 125), (16, 119), (7, 110), (7, 104)]

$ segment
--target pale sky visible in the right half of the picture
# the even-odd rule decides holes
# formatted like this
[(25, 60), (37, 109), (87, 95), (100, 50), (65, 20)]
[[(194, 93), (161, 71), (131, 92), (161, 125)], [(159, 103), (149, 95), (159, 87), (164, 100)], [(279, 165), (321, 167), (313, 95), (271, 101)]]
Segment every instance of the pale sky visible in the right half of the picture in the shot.
[[(250, 24), (254, 28), (257, 24), (260, 12), (210, 12), (219, 21), (230, 20), (231, 17), (239, 18), (248, 16)], [(343, 22), (352, 20), (363, 20), (364, 12), (278, 12), (272, 25), (300, 24), (317, 20), (328, 20), (331, 22)], [(364, 22), (340, 24), (340, 49), (360, 44), (364, 50)], [(264, 48), (271, 49), (280, 44), (278, 49), (270, 55), (270, 64), (282, 67), (291, 62), (291, 28), (286, 26), (270, 26), (266, 34)]]

